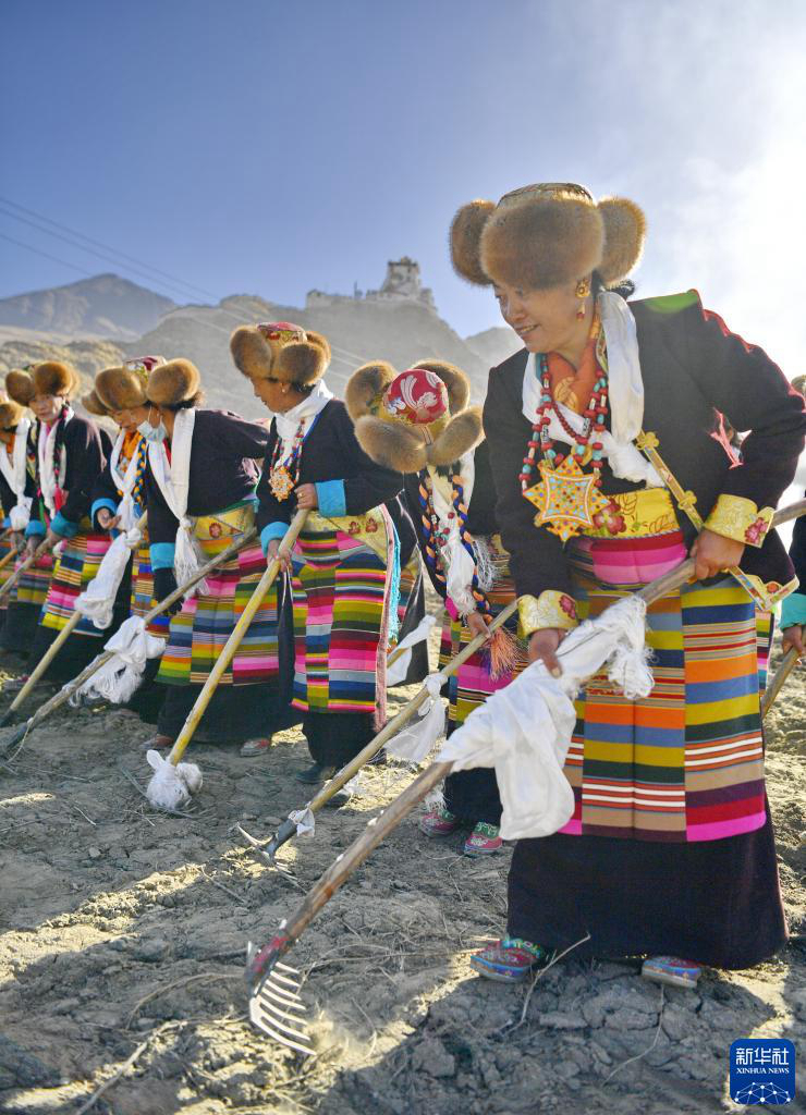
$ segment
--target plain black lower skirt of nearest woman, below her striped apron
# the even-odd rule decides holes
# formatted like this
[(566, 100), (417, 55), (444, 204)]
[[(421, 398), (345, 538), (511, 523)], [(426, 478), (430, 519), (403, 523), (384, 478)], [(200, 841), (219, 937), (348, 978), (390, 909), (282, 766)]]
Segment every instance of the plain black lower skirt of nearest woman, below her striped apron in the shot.
[(786, 943), (775, 837), (761, 828), (690, 844), (555, 834), (522, 840), (507, 931), (574, 957), (676, 956), (750, 968)]

